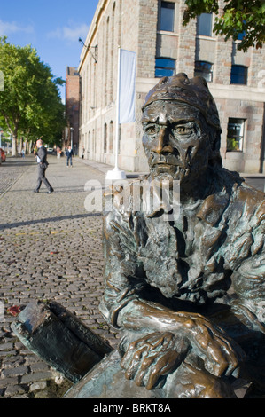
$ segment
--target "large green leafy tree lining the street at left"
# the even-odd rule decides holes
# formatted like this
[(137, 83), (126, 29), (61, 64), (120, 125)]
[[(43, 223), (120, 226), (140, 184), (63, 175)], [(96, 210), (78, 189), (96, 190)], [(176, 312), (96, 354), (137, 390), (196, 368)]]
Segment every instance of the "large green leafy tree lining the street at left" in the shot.
[(11, 132), (17, 153), (18, 137), (43, 137), (47, 143), (58, 138), (65, 126), (58, 92), (61, 79), (53, 79), (51, 68), (30, 45), (19, 47), (0, 37), (0, 71), (4, 91), (0, 92), (0, 124)]

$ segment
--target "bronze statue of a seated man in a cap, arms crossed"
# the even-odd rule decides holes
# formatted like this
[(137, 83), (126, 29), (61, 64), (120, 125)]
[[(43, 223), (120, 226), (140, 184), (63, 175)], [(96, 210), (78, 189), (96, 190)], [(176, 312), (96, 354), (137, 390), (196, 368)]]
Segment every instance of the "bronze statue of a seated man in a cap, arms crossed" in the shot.
[(143, 128), (144, 181), (179, 181), (180, 206), (165, 221), (162, 205), (125, 207), (120, 188), (105, 216), (100, 309), (124, 332), (125, 377), (162, 397), (233, 397), (238, 376), (264, 392), (264, 193), (222, 168), (203, 78), (162, 78)]

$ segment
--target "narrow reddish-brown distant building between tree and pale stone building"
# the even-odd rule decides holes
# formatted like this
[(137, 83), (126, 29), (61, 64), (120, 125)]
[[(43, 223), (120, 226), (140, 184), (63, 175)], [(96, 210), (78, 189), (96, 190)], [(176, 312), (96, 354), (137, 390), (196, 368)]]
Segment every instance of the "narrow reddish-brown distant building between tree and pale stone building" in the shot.
[(66, 68), (66, 146), (72, 145), (79, 152), (79, 101), (80, 77), (74, 67)]

